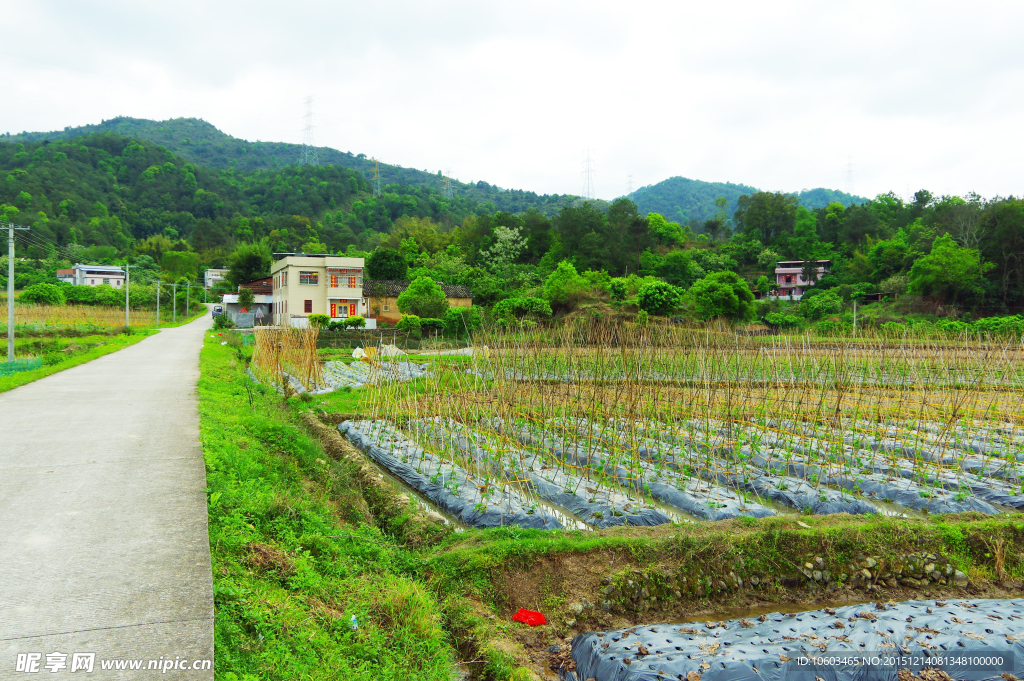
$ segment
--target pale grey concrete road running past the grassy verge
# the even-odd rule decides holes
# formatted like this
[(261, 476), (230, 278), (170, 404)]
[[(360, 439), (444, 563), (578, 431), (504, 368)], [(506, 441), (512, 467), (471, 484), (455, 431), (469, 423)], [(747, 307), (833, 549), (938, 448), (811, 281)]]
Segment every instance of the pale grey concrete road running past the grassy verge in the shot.
[[(146, 670), (213, 661), (196, 397), (210, 325), (0, 393), (0, 679), (37, 678), (36, 659), (43, 678), (213, 678)], [(73, 673), (75, 653), (86, 656)], [(111, 661), (142, 669), (103, 670)]]

